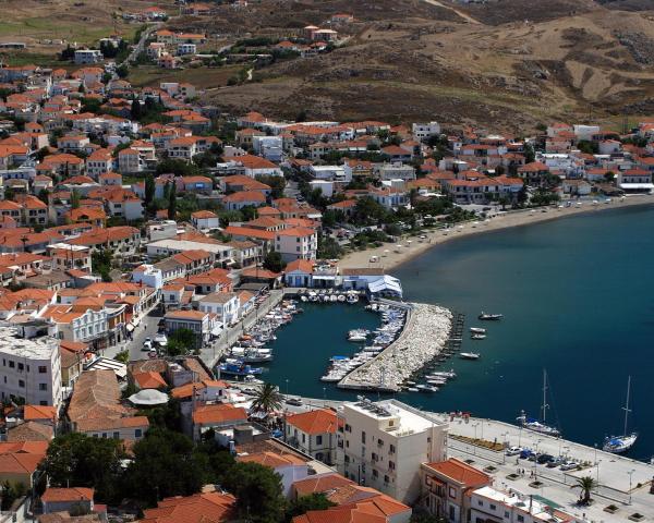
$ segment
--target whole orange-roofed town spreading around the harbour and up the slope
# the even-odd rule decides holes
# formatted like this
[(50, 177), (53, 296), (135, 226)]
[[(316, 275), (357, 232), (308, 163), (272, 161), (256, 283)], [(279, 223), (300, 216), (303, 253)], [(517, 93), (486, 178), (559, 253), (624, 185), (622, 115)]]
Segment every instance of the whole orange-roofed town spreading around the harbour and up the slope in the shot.
[(131, 74), (219, 62), (247, 82), (255, 64), (331, 52), (353, 15), (218, 52), (175, 14), (124, 11), (147, 24), (135, 44), (62, 45), (65, 68), (0, 66), (0, 523), (651, 521), (643, 462), (397, 399), (299, 398), (245, 364), (271, 357), (247, 341), (302, 302), (399, 304), (431, 342), (407, 335), (402, 379), (334, 376), (401, 390), (451, 314), (405, 305), (393, 256), (510, 217), (647, 200), (654, 122), (519, 136), (230, 114), (184, 73)]

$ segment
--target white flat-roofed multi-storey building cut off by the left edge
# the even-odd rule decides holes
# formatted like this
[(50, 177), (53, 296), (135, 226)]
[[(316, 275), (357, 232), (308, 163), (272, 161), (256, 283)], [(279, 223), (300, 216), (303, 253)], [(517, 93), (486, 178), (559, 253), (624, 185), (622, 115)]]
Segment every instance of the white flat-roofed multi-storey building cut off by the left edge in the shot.
[(19, 338), (0, 329), (0, 397), (34, 405), (61, 404), (61, 355), (56, 339)]

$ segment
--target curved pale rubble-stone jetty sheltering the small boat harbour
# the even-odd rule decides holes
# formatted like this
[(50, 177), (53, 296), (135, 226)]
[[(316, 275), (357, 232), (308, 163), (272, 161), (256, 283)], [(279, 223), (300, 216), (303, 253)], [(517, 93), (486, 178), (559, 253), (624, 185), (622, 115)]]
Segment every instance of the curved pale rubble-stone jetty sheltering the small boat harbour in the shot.
[(407, 308), (407, 321), (400, 336), (373, 360), (341, 379), (339, 388), (396, 392), (405, 379), (443, 351), (452, 329), (450, 311), (425, 303), (400, 305)]

